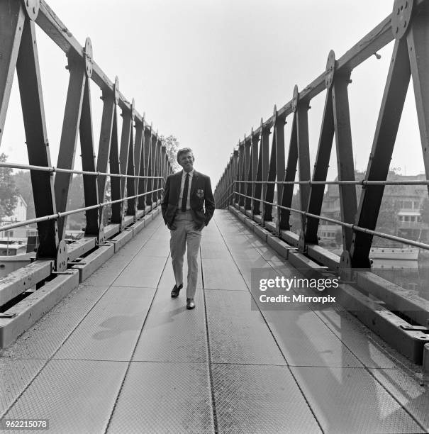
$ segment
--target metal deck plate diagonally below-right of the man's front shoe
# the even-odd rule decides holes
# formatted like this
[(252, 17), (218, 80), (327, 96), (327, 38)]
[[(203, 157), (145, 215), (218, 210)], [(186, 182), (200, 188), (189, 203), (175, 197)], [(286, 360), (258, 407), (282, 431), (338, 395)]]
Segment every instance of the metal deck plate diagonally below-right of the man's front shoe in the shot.
[(286, 364), (249, 293), (206, 291), (206, 304), (213, 363)]

